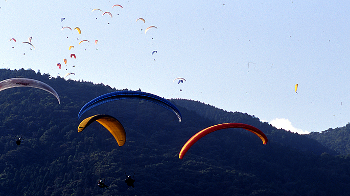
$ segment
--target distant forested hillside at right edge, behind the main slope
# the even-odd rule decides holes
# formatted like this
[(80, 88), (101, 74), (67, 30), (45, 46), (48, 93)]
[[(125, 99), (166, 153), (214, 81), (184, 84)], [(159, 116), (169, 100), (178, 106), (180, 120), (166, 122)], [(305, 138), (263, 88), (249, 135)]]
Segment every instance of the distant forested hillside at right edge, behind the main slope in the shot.
[(342, 155), (350, 154), (350, 123), (340, 128), (311, 132), (307, 136)]

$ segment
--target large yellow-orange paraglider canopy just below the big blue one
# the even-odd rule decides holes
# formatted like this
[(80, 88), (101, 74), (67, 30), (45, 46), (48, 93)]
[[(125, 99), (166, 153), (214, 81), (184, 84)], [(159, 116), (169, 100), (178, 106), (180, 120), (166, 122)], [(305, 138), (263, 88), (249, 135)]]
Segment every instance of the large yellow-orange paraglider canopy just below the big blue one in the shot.
[(123, 146), (126, 141), (126, 133), (123, 125), (114, 117), (109, 115), (95, 115), (84, 119), (78, 126), (78, 132), (83, 131), (93, 122), (99, 122), (103, 125), (115, 138), (119, 146)]

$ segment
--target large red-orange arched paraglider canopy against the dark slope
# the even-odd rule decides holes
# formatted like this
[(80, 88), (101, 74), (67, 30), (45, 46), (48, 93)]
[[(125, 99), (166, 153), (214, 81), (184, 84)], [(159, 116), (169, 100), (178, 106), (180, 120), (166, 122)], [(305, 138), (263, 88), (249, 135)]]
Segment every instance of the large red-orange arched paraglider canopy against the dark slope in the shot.
[(228, 129), (228, 128), (242, 128), (245, 129), (247, 131), (250, 131), (252, 133), (254, 133), (255, 135), (258, 135), (260, 137), (260, 139), (263, 141), (263, 144), (267, 143), (267, 137), (266, 135), (259, 130), (256, 127), (253, 127), (251, 125), (247, 125), (247, 124), (243, 124), (243, 123), (223, 123), (223, 124), (218, 124), (218, 125), (214, 125), (208, 128), (205, 128), (201, 131), (199, 131), (198, 133), (196, 133), (195, 135), (193, 135), (187, 142), (185, 145), (183, 145), (180, 153), (179, 153), (179, 158), (182, 159), (183, 156), (186, 154), (186, 152), (191, 148), (192, 145), (194, 145), (200, 138), (202, 138), (203, 136), (220, 130), (220, 129)]

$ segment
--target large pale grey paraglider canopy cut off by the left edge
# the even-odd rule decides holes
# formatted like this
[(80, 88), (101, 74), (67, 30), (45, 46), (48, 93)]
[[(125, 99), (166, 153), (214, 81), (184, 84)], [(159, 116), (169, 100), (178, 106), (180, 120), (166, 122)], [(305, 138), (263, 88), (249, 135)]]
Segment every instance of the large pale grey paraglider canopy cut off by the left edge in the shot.
[(60, 98), (56, 91), (44, 82), (29, 78), (11, 78), (0, 81), (0, 91), (14, 87), (31, 87), (47, 91), (53, 94), (57, 98), (58, 103), (60, 103)]

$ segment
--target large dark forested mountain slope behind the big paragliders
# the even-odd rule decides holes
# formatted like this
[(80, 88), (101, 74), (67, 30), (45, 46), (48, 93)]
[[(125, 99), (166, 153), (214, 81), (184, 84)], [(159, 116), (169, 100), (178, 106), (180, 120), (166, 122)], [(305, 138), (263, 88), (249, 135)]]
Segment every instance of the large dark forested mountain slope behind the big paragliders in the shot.
[[(85, 103), (118, 90), (33, 70), (0, 69), (0, 80), (13, 77), (47, 83), (61, 104), (40, 89), (0, 91), (0, 196), (348, 195), (350, 157), (334, 156), (312, 138), (276, 129), (248, 114), (173, 99), (182, 115), (179, 123), (163, 107), (125, 99), (94, 107), (79, 120)], [(97, 122), (77, 132), (84, 118), (96, 114), (111, 115), (123, 124), (124, 146)], [(195, 133), (224, 122), (255, 126), (268, 143), (263, 145), (244, 129), (223, 129), (201, 138), (178, 158)], [(18, 137), (24, 138), (20, 146), (15, 143)], [(135, 188), (125, 184), (125, 174), (135, 174)], [(97, 186), (100, 178), (109, 189)]]

